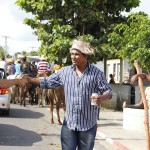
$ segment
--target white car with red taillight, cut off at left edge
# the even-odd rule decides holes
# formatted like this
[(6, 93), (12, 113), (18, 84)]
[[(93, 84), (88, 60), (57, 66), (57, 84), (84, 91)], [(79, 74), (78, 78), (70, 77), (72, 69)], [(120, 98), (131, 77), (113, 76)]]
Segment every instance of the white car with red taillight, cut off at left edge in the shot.
[[(0, 68), (0, 79), (7, 79), (6, 72)], [(9, 88), (0, 88), (0, 113), (9, 115), (11, 93)]]

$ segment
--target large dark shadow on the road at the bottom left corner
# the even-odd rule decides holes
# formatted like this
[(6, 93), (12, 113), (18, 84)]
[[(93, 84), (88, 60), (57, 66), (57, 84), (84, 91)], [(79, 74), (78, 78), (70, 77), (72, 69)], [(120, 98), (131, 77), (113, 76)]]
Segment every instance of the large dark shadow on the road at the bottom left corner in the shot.
[(42, 141), (42, 138), (36, 132), (24, 130), (13, 125), (0, 124), (0, 145), (32, 146), (33, 143), (39, 141)]

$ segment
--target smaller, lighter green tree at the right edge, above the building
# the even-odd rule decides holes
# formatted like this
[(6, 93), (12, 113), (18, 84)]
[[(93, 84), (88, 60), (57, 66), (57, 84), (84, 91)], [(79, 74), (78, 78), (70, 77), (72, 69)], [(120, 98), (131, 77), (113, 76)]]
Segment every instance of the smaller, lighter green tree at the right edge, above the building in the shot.
[(138, 60), (141, 68), (150, 72), (150, 19), (143, 13), (129, 15), (126, 23), (118, 24), (109, 35), (111, 50), (131, 66)]

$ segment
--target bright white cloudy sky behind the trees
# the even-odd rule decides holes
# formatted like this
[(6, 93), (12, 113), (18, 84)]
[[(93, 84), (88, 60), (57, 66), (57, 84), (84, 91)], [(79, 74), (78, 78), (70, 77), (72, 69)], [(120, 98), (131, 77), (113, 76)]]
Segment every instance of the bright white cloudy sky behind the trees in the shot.
[[(6, 47), (9, 54), (37, 50), (40, 42), (30, 26), (23, 24), (24, 18), (31, 18), (15, 5), (16, 0), (0, 0), (0, 46)], [(150, 0), (141, 0), (140, 6), (131, 12), (144, 11), (150, 16)]]

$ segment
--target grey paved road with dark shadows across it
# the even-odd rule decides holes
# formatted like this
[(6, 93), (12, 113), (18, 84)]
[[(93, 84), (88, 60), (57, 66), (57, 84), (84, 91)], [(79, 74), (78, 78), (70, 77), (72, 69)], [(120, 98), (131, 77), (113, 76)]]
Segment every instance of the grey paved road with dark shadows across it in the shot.
[[(55, 124), (50, 124), (49, 113), (46, 107), (11, 104), (9, 117), (0, 115), (0, 149), (61, 150), (61, 126), (57, 125), (55, 117)], [(94, 150), (115, 150), (98, 136), (95, 143)]]

